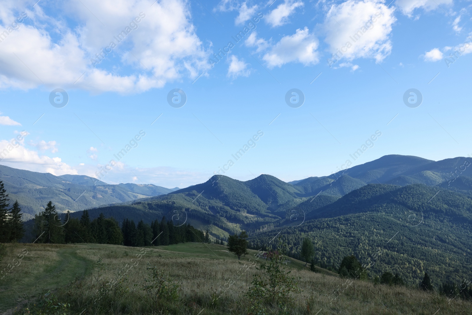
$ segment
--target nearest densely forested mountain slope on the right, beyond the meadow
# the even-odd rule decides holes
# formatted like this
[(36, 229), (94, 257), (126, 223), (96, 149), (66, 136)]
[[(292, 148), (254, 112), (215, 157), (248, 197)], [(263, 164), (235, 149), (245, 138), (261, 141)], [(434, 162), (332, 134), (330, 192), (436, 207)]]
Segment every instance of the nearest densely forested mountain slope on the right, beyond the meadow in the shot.
[(310, 237), (316, 259), (328, 265), (354, 254), (373, 264), (371, 275), (398, 272), (417, 285), (428, 272), (437, 288), (472, 277), (472, 200), (445, 188), (369, 184), (313, 207), (303, 224), (281, 225), (249, 233), (253, 248), (278, 236), (297, 257)]

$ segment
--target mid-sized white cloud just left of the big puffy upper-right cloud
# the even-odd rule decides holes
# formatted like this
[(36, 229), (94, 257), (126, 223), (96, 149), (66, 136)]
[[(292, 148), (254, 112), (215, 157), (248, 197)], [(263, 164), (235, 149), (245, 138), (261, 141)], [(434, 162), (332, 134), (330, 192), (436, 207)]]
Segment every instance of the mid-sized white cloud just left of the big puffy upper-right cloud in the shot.
[(300, 62), (305, 66), (318, 63), (318, 40), (308, 28), (297, 29), (295, 34), (282, 37), (262, 58), (269, 68), (281, 67), (288, 62)]

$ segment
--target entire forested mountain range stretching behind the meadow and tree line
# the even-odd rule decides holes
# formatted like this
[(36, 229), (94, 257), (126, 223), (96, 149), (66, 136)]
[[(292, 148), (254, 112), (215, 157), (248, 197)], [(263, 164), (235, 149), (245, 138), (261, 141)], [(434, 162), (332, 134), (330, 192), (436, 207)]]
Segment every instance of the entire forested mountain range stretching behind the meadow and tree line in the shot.
[[(39, 179), (26, 178), (39, 176), (33, 172), (22, 173), (21, 179), (11, 178), (9, 183), (30, 189), (36, 196), (42, 189), (49, 189), (49, 195), (41, 200), (53, 194), (57, 200), (68, 198), (69, 204), (70, 200), (84, 198), (82, 206), (97, 203), (98, 194), (110, 199), (128, 198), (123, 200), (125, 203), (107, 202), (89, 210), (91, 219), (103, 213), (118, 222), (129, 218), (150, 223), (165, 216), (175, 225), (190, 223), (222, 239), (246, 230), (254, 248), (270, 247), (277, 236), (295, 257), (303, 238), (310, 237), (316, 259), (323, 264), (337, 266), (345, 255), (354, 254), (362, 263), (374, 263), (369, 270), (372, 274), (399, 272), (407, 283), (415, 284), (427, 271), (439, 285), (447, 280), (472, 278), (469, 160), (457, 157), (436, 162), (387, 155), (329, 176), (290, 183), (266, 174), (248, 181), (215, 175), (202, 184), (174, 191), (153, 185), (93, 186), (91, 178), (50, 174), (42, 174), (42, 180), (47, 178), (51, 184), (41, 182), (41, 187), (35, 187), (40, 186)], [(5, 180), (1, 170), (1, 180)], [(22, 180), (24, 185), (20, 185)], [(60, 188), (64, 185), (71, 191)], [(147, 194), (145, 189), (149, 189)], [(160, 195), (150, 196), (151, 189)], [(9, 187), (7, 190), (12, 192)], [(86, 194), (73, 199), (81, 194), (80, 190)], [(10, 196), (15, 194), (13, 191)], [(77, 211), (71, 216), (81, 214)]]

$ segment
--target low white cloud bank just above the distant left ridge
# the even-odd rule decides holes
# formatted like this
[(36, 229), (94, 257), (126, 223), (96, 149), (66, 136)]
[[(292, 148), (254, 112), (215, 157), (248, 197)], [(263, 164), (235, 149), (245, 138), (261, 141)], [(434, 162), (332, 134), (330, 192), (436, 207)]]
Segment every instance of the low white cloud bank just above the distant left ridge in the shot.
[(77, 170), (62, 162), (59, 157), (39, 155), (21, 143), (12, 144), (12, 140), (0, 140), (0, 161), (2, 165), (52, 175), (77, 174)]

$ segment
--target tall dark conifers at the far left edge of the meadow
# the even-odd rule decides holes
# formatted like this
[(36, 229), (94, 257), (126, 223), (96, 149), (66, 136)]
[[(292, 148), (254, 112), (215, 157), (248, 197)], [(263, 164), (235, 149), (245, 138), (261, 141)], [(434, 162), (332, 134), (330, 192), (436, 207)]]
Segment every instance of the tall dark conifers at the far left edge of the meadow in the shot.
[(7, 191), (0, 180), (0, 243), (19, 241), (25, 235), (20, 204), (15, 201), (11, 207)]

